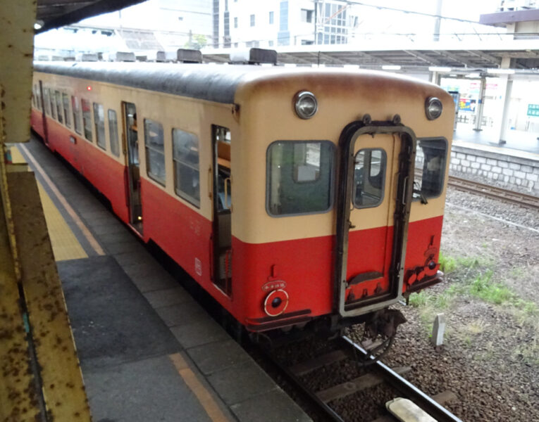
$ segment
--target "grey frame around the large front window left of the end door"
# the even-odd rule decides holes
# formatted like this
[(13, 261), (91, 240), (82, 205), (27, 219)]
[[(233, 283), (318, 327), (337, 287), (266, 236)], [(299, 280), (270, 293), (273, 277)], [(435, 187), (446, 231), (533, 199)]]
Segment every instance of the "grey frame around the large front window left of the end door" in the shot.
[[(283, 142), (290, 142), (290, 143), (327, 143), (331, 146), (331, 169), (330, 169), (330, 175), (329, 175), (329, 205), (326, 210), (321, 211), (312, 211), (312, 212), (297, 212), (293, 214), (273, 214), (270, 210), (270, 180), (271, 180), (271, 166), (269, 165), (269, 153), (271, 150), (271, 147), (275, 143), (283, 143)], [(333, 207), (335, 206), (335, 172), (337, 170), (337, 146), (332, 141), (329, 141), (328, 139), (306, 139), (306, 140), (290, 140), (290, 139), (278, 139), (277, 141), (273, 141), (268, 145), (268, 148), (266, 148), (266, 213), (272, 217), (272, 218), (282, 218), (282, 217), (300, 217), (302, 215), (321, 215), (321, 214), (327, 214), (331, 210), (333, 210)], [(292, 170), (293, 171), (293, 170)], [(292, 175), (293, 176), (293, 175)], [(292, 179), (293, 180), (293, 179)], [(304, 184), (304, 182), (294, 182), (297, 184)]]

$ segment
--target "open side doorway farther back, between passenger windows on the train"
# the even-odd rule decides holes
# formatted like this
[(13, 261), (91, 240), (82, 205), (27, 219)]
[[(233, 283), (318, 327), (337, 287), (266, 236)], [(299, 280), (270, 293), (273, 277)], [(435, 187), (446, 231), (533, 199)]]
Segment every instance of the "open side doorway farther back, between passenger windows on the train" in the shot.
[(127, 195), (130, 224), (142, 234), (142, 202), (140, 196), (139, 135), (137, 108), (133, 103), (122, 102), (123, 143), (126, 155), (125, 192)]

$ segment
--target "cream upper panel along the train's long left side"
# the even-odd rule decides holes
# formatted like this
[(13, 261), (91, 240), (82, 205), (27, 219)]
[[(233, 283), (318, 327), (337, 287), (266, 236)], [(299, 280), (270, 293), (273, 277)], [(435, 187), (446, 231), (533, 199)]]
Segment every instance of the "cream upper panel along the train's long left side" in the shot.
[[(105, 136), (106, 136), (106, 153), (110, 158), (116, 160), (120, 165), (126, 165), (127, 148), (123, 145), (122, 132), (122, 110), (121, 103), (123, 101), (134, 103), (137, 108), (137, 126), (139, 136), (139, 157), (140, 157), (140, 175), (147, 179), (149, 183), (154, 184), (158, 188), (166, 191), (169, 195), (199, 212), (206, 219), (211, 220), (213, 214), (213, 205), (211, 198), (207, 194), (206, 186), (211, 184), (211, 124), (220, 124), (228, 127), (233, 132), (237, 132), (237, 122), (231, 113), (232, 105), (214, 103), (212, 101), (204, 101), (196, 98), (178, 97), (173, 94), (165, 94), (156, 91), (148, 91), (145, 89), (137, 89), (132, 87), (123, 87), (121, 85), (110, 84), (107, 82), (97, 82), (76, 77), (66, 77), (65, 75), (54, 75), (49, 73), (35, 72), (35, 80), (42, 80), (44, 87), (51, 91), (65, 92), (69, 96), (77, 96), (79, 101), (84, 98), (90, 103), (99, 103), (105, 110)], [(88, 89), (90, 87), (90, 89)], [(110, 134), (109, 134), (109, 118), (107, 110), (115, 110), (118, 116), (118, 136), (120, 141), (120, 155), (116, 157), (111, 153)], [(73, 113), (70, 104), (70, 113)], [(94, 113), (91, 111), (93, 140), (87, 141), (94, 148), (99, 148), (95, 138), (95, 122)], [(154, 179), (148, 176), (147, 161), (144, 144), (144, 119), (150, 119), (154, 122), (159, 122), (163, 125), (163, 141), (165, 151), (165, 185), (159, 184)], [(180, 198), (175, 193), (174, 187), (174, 169), (172, 155), (172, 130), (182, 129), (185, 132), (196, 134), (199, 139), (199, 177), (200, 186), (204, 191), (201, 191), (200, 207), (192, 205), (189, 201)], [(73, 122), (70, 129), (73, 134)], [(80, 138), (84, 138), (84, 134), (76, 134)], [(97, 165), (99, 165), (97, 163)], [(119, 181), (123, 183), (122, 181)]]

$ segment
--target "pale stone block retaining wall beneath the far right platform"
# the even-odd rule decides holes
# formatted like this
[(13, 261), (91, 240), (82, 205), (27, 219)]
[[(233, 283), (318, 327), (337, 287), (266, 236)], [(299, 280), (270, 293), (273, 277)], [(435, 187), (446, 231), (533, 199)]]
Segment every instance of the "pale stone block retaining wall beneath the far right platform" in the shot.
[(532, 158), (453, 145), (450, 172), (488, 179), (507, 188), (526, 189), (539, 196), (539, 160)]

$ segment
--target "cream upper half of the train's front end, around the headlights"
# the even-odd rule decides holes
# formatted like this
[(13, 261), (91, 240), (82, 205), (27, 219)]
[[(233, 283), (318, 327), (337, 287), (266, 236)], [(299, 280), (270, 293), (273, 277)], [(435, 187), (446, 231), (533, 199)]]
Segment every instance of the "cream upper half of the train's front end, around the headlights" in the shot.
[[(318, 112), (309, 120), (297, 117), (293, 108), (293, 98), (302, 90), (311, 91), (318, 100)], [(425, 114), (425, 101), (430, 96), (440, 98), (444, 107), (437, 120), (428, 120)], [(235, 168), (233, 174), (233, 235), (247, 243), (335, 233), (335, 206), (328, 212), (290, 217), (271, 217), (266, 212), (266, 152), (274, 141), (330, 141), (337, 150), (342, 129), (350, 122), (366, 114), (373, 120), (383, 121), (399, 114), (402, 124), (411, 128), (417, 138), (447, 139), (446, 160), (450, 157), (452, 97), (440, 87), (414, 79), (383, 72), (287, 72), (286, 75), (253, 77), (240, 84), (235, 102), (240, 106), (242, 140), (240, 146), (233, 144), (232, 161), (233, 167), (241, 162), (242, 168)], [(395, 195), (395, 189), (392, 193)], [(440, 197), (429, 200), (428, 205), (414, 202), (410, 221), (442, 215), (444, 203), (445, 188)], [(378, 224), (370, 225), (368, 218), (362, 224), (363, 229), (375, 226)]]

